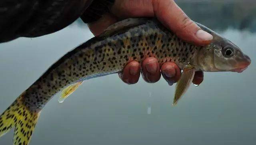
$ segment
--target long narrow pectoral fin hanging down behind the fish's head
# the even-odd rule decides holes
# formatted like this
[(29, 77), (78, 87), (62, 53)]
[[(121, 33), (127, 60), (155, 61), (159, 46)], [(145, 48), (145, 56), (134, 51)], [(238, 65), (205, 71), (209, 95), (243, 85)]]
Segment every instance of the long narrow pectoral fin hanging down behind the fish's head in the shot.
[(192, 83), (194, 75), (195, 75), (194, 67), (191, 65), (186, 65), (180, 77), (180, 80), (176, 85), (176, 90), (175, 90), (175, 95), (174, 95), (174, 100), (172, 105), (176, 105), (180, 97), (184, 95), (184, 93)]

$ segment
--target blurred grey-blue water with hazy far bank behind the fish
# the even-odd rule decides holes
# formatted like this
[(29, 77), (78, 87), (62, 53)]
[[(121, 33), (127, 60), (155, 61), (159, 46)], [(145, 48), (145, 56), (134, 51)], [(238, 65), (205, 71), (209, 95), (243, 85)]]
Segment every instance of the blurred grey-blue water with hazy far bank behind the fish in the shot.
[[(252, 145), (256, 141), (256, 1), (176, 1), (196, 22), (252, 59), (243, 73), (204, 73), (172, 107), (161, 79), (126, 85), (116, 74), (90, 79), (64, 103), (43, 109), (30, 145)], [(81, 20), (54, 34), (0, 44), (0, 112), (51, 64), (92, 38)], [(150, 95), (151, 94), (151, 95)], [(11, 145), (13, 130), (0, 138)]]

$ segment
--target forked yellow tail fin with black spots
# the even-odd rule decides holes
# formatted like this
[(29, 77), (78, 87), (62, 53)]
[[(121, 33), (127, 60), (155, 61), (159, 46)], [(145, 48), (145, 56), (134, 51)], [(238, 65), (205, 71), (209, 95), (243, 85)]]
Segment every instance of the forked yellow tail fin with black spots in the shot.
[(14, 145), (28, 145), (40, 115), (28, 110), (22, 99), (21, 95), (0, 116), (0, 137), (15, 127)]

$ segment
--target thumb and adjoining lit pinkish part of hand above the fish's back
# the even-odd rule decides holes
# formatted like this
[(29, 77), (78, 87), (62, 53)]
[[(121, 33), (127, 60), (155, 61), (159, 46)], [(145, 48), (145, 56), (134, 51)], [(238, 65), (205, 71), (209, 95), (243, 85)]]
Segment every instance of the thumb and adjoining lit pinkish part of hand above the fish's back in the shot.
[(119, 19), (156, 16), (179, 38), (196, 45), (207, 45), (212, 35), (194, 23), (174, 0), (116, 0), (111, 8)]

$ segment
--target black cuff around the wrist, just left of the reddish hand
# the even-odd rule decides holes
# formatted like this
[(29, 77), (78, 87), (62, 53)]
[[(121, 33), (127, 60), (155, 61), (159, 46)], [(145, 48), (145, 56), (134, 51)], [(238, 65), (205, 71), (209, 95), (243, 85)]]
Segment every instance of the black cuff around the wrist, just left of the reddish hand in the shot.
[(98, 20), (103, 14), (109, 12), (115, 0), (94, 0), (80, 17), (84, 23)]

